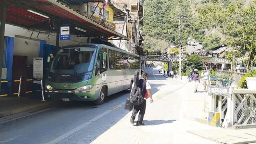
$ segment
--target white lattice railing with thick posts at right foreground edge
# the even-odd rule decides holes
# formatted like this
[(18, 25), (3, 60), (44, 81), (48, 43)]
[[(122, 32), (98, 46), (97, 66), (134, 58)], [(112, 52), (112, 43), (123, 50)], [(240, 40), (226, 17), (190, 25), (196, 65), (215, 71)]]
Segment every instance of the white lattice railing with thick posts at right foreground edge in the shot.
[(218, 89), (209, 93), (209, 112), (220, 112), (222, 127), (256, 124), (256, 90)]

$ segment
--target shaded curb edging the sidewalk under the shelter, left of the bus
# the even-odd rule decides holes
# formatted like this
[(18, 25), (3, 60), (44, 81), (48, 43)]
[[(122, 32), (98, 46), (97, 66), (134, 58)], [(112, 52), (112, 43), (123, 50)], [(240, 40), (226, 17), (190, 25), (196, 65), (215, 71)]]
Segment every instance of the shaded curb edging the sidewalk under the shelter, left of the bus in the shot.
[(24, 108), (18, 108), (18, 109), (15, 109), (15, 110), (8, 110), (8, 111), (5, 111), (5, 112), (1, 112), (0, 113), (0, 117), (4, 117), (4, 116), (9, 116), (9, 115), (12, 115), (12, 114), (17, 114), (17, 113), (20, 113), (20, 112), (25, 112), (25, 111), (28, 111), (28, 110), (34, 110), (34, 109), (38, 109), (38, 108), (48, 108), (48, 107), (51, 107), (51, 106), (54, 106), (55, 105), (55, 102), (45, 102), (45, 103), (42, 103), (42, 104), (35, 104), (35, 105), (32, 105), (32, 106), (27, 106), (27, 107), (24, 107)]

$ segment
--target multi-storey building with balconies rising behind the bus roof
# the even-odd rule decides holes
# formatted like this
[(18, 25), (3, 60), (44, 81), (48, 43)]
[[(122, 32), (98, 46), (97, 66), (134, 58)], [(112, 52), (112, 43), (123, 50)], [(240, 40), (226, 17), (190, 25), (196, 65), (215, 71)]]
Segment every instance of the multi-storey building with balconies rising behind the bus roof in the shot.
[(143, 54), (143, 34), (140, 26), (143, 26), (144, 1), (143, 0), (116, 0), (111, 2), (116, 8), (122, 9), (124, 14), (114, 16), (116, 31), (130, 38), (130, 41), (113, 40), (115, 45), (129, 52)]

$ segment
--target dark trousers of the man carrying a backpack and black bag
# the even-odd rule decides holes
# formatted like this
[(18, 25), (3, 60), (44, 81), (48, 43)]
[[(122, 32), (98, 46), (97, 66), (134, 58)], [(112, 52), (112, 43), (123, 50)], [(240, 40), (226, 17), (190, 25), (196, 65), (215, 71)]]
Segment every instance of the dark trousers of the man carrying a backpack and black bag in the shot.
[[(144, 114), (145, 114), (145, 111), (146, 111), (146, 100), (143, 100), (142, 104), (140, 105), (134, 105), (133, 108), (133, 112), (132, 112), (132, 119), (134, 120), (135, 119), (135, 116), (138, 114), (138, 112), (140, 111), (139, 113), (139, 116), (138, 116), (138, 122), (139, 123), (142, 123), (143, 121), (143, 118), (144, 118)], [(138, 123), (137, 122), (137, 123)]]

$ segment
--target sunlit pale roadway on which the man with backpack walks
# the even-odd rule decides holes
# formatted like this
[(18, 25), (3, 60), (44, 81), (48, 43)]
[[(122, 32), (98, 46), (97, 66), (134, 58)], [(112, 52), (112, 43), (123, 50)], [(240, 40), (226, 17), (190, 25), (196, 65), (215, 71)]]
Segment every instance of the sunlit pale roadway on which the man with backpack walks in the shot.
[[(166, 80), (161, 83), (165, 82)], [(216, 128), (186, 119), (180, 120), (181, 94), (186, 87), (176, 80), (169, 82), (170, 84), (154, 93), (153, 103), (147, 100), (144, 126), (130, 124), (132, 112), (129, 112), (91, 144), (216, 144), (216, 142), (187, 132), (188, 130)], [(150, 84), (153, 83), (154, 81), (151, 80)], [(170, 87), (172, 93), (168, 94)], [(136, 116), (135, 123), (137, 119), (138, 116)]]

